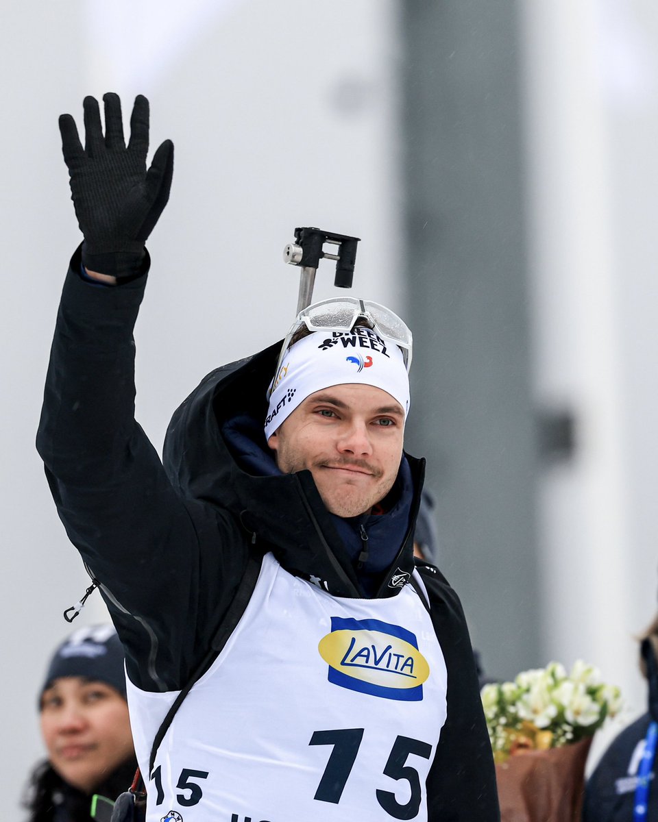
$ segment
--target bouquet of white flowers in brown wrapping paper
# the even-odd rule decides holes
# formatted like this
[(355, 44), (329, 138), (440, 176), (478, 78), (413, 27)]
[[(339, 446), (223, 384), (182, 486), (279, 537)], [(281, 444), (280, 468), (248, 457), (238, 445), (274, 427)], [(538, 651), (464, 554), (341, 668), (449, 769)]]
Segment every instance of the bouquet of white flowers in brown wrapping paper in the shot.
[(485, 685), (484, 716), (503, 822), (580, 820), (591, 737), (621, 708), (619, 688), (578, 660)]

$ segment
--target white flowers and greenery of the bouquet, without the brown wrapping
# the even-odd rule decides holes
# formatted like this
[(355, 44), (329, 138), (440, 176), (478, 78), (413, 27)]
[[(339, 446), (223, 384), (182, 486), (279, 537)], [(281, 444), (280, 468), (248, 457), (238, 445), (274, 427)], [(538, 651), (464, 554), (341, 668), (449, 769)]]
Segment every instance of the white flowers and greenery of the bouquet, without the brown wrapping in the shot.
[(581, 741), (621, 708), (617, 686), (605, 685), (582, 660), (571, 672), (549, 663), (518, 674), (513, 682), (485, 685), (484, 716), (493, 758), (504, 762), (526, 750), (548, 750)]

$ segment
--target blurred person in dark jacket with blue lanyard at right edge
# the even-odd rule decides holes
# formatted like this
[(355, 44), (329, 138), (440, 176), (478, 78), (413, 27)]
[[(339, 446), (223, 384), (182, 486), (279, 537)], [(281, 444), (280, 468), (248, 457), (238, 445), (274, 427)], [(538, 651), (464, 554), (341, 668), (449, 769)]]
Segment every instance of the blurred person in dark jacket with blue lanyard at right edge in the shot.
[(625, 728), (589, 778), (583, 822), (658, 820), (658, 614), (640, 637), (640, 667), (649, 689), (648, 709)]

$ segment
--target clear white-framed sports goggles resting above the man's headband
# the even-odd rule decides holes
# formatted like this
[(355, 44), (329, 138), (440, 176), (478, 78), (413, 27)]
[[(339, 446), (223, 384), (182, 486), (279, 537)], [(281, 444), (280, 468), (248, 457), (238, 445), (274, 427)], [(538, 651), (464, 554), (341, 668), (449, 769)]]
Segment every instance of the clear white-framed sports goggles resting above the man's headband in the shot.
[[(299, 312), (281, 346), (275, 375), (279, 373), (285, 352), (290, 348), (290, 340), (303, 325), (311, 333), (314, 331), (346, 332), (352, 330), (359, 318), (363, 318), (368, 328), (376, 334), (387, 337), (400, 347), (407, 373), (409, 373), (413, 338), (410, 329), (400, 317), (378, 302), (356, 297), (339, 297), (314, 302)], [(268, 391), (269, 395), (271, 391)]]

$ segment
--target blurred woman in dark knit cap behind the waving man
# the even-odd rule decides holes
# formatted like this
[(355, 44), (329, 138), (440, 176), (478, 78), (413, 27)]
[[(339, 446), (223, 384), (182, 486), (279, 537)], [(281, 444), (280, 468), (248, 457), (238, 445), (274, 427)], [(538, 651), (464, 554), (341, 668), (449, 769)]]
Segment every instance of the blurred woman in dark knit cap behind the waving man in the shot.
[(48, 759), (30, 778), (28, 820), (90, 822), (94, 794), (114, 801), (137, 770), (123, 649), (112, 626), (81, 628), (58, 647), (39, 712)]

